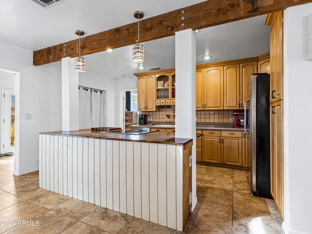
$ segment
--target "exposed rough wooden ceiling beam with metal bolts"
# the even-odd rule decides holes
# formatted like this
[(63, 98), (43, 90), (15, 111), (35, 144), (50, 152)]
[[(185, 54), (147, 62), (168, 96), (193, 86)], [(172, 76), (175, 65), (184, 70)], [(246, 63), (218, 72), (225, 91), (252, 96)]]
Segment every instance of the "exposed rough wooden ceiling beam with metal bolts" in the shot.
[[(309, 2), (312, 0), (208, 0), (141, 20), (140, 42), (172, 36), (185, 29), (208, 28)], [(185, 19), (182, 20), (182, 17)], [(81, 38), (81, 55), (129, 46), (135, 44), (136, 40), (137, 22)], [(60, 61), (68, 56), (76, 57), (78, 48), (78, 39), (76, 39), (36, 50), (33, 64), (38, 66)]]

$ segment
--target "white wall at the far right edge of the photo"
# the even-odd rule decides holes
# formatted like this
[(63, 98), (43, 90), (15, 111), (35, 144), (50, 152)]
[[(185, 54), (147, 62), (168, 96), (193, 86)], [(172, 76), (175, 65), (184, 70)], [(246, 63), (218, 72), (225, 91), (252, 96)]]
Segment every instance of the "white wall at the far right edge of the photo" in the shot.
[(284, 12), (285, 233), (312, 233), (312, 63), (306, 61), (306, 17), (312, 4)]

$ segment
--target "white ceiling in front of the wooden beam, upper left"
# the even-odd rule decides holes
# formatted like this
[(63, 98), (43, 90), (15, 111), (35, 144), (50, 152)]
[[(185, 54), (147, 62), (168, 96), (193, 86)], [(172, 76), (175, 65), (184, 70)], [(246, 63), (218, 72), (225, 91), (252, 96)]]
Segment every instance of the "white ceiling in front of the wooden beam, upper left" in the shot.
[(154, 17), (204, 0), (64, 0), (46, 9), (32, 0), (0, 0), (0, 40), (39, 50), (135, 22), (136, 10)]

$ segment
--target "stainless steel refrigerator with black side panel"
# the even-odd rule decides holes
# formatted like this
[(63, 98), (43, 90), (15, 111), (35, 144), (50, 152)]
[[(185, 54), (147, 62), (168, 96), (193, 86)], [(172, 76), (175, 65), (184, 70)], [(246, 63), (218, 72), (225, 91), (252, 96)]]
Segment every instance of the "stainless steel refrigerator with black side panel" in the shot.
[(251, 144), (251, 191), (272, 198), (270, 180), (270, 75), (253, 74), (244, 110), (244, 131)]

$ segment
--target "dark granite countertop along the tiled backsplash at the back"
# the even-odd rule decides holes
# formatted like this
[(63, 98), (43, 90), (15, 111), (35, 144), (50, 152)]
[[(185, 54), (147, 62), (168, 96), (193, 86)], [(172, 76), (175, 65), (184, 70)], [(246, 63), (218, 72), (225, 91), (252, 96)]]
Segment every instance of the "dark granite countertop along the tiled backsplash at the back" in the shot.
[[(155, 123), (153, 125), (131, 125), (130, 127), (139, 128), (166, 128), (175, 129), (176, 126), (172, 123)], [(220, 131), (244, 131), (244, 128), (233, 128), (232, 123), (197, 123), (196, 130), (220, 130)]]

